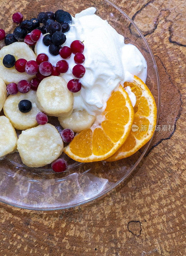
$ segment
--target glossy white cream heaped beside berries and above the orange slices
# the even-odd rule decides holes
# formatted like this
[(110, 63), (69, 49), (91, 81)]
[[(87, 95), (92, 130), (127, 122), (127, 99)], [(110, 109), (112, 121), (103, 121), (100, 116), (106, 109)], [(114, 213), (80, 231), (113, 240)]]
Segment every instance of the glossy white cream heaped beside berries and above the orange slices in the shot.
[[(91, 115), (100, 115), (111, 92), (125, 81), (132, 81), (133, 75), (144, 82), (147, 76), (145, 58), (132, 44), (125, 44), (124, 37), (112, 28), (107, 20), (95, 15), (94, 7), (88, 8), (72, 17), (71, 28), (66, 35), (66, 42), (70, 46), (74, 40), (84, 41), (85, 75), (80, 79), (81, 91), (74, 93), (74, 109), (86, 111)], [(42, 43), (42, 36), (36, 44), (36, 52), (46, 53), (48, 61), (56, 66), (62, 60), (60, 55), (52, 56), (48, 47)], [(67, 60), (69, 69), (61, 74), (66, 82), (73, 79), (72, 68), (75, 65), (74, 54)], [(129, 89), (130, 99), (135, 102), (135, 95)]]

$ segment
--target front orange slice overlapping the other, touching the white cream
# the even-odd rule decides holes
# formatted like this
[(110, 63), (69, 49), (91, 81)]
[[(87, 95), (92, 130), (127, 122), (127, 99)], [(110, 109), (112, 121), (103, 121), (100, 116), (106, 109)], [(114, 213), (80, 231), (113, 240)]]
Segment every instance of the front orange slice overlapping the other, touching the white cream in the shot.
[(78, 162), (100, 161), (121, 147), (131, 130), (134, 109), (120, 85), (107, 101), (105, 120), (77, 134), (64, 152)]

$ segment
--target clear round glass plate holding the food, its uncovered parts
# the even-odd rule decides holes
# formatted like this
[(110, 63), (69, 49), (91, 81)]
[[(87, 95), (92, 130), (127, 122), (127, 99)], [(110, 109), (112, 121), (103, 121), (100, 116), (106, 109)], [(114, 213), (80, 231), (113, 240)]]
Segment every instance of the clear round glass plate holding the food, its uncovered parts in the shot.
[[(37, 17), (41, 11), (63, 9), (74, 16), (87, 7), (96, 7), (96, 14), (108, 20), (125, 37), (125, 43), (136, 45), (144, 55), (148, 66), (146, 84), (156, 101), (158, 120), (160, 82), (153, 54), (139, 28), (121, 9), (107, 0), (63, 0), (61, 4), (58, 0), (42, 0), (42, 5), (38, 3), (34, 8), (29, 1), (24, 3), (27, 6), (24, 6), (22, 13), (26, 19)], [(55, 118), (50, 118), (49, 122), (61, 129)], [(0, 201), (31, 210), (65, 209), (85, 204), (126, 179), (139, 164), (150, 143), (151, 140), (133, 156), (111, 163), (78, 163), (64, 155), (68, 169), (63, 173), (52, 172), (50, 165), (29, 168), (22, 164), (18, 153), (10, 154), (0, 161)]]

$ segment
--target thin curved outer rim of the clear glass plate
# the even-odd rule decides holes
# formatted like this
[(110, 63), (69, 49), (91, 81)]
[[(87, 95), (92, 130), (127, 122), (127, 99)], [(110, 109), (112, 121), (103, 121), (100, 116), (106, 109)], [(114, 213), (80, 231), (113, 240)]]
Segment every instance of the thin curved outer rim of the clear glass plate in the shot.
[[(149, 46), (149, 44), (147, 43), (145, 37), (143, 36), (142, 32), (140, 31), (140, 29), (138, 28), (138, 26), (133, 22), (133, 20), (130, 19), (130, 17), (122, 11), (122, 9), (120, 9), (119, 7), (117, 7), (117, 5), (115, 5), (114, 3), (110, 2), (109, 0), (104, 0), (105, 2), (107, 2), (108, 4), (111, 4), (112, 6), (115, 7), (115, 9), (117, 9), (119, 12), (121, 12), (128, 20), (130, 20), (130, 22), (132, 23), (132, 25), (137, 29), (138, 33), (140, 34), (140, 36), (143, 38), (149, 52), (150, 52), (150, 55), (151, 55), (151, 58), (153, 60), (153, 64), (154, 64), (154, 69), (155, 69), (155, 73), (156, 73), (156, 79), (157, 79), (157, 87), (158, 87), (158, 108), (157, 108), (157, 121), (156, 121), (156, 124), (158, 123), (158, 119), (159, 119), (159, 114), (160, 114), (160, 79), (159, 79), (159, 74), (158, 74), (158, 68), (157, 68), (157, 65), (156, 65), (156, 61), (154, 59), (154, 56), (153, 56), (153, 53), (151, 51), (151, 48)], [(154, 134), (153, 134), (154, 136)], [(74, 205), (71, 205), (71, 206), (65, 206), (65, 207), (56, 207), (56, 208), (33, 208), (33, 207), (26, 207), (26, 206), (21, 206), (21, 205), (16, 205), (16, 204), (11, 204), (11, 203), (8, 203), (6, 201), (3, 201), (3, 200), (0, 200), (1, 203), (4, 203), (4, 204), (7, 204), (7, 205), (11, 205), (11, 206), (14, 206), (14, 207), (17, 207), (17, 208), (20, 208), (20, 209), (25, 209), (25, 210), (33, 210), (33, 211), (56, 211), (56, 210), (63, 210), (63, 209), (70, 209), (70, 208), (74, 208), (74, 207), (77, 207), (77, 206), (80, 206), (82, 204), (86, 204), (86, 203), (90, 203), (91, 201), (103, 196), (103, 195), (106, 195), (108, 192), (110, 192), (112, 189), (116, 188), (116, 186), (118, 186), (123, 180), (125, 180), (133, 171), (134, 169), (137, 167), (137, 165), (139, 164), (139, 162), (141, 161), (141, 159), (143, 158), (143, 156), (145, 155), (145, 153), (147, 152), (147, 149), (149, 148), (150, 144), (151, 144), (151, 141), (153, 139), (153, 136), (151, 138), (151, 140), (148, 141), (147, 143), (147, 146), (145, 148), (145, 150), (143, 151), (143, 154), (138, 158), (137, 162), (134, 164), (134, 166), (131, 168), (130, 172), (126, 173), (122, 179), (118, 180), (113, 187), (111, 188), (108, 188), (106, 191), (100, 193), (99, 195), (97, 196), (94, 196), (88, 200), (86, 200), (85, 202), (79, 202), (78, 204), (74, 204)]]

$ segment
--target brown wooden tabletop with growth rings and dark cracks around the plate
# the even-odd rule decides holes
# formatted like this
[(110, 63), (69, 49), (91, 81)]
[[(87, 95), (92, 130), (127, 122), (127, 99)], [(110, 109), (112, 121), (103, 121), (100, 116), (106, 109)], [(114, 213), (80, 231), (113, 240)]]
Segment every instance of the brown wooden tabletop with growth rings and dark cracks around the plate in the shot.
[[(24, 1), (9, 2), (1, 1), (1, 10), (13, 13), (25, 8)], [(0, 204), (0, 256), (186, 255), (186, 4), (184, 0), (114, 3), (136, 22), (155, 56), (161, 131), (132, 175), (90, 204), (55, 212)]]

